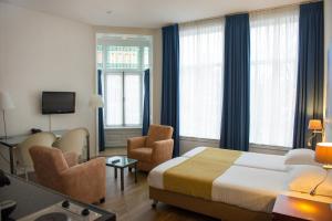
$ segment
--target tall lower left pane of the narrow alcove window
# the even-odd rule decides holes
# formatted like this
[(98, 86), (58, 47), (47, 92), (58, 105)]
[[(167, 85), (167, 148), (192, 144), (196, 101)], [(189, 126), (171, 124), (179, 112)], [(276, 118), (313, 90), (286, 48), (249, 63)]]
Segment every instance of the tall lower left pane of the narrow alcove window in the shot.
[(106, 75), (106, 125), (122, 125), (123, 84), (122, 74)]

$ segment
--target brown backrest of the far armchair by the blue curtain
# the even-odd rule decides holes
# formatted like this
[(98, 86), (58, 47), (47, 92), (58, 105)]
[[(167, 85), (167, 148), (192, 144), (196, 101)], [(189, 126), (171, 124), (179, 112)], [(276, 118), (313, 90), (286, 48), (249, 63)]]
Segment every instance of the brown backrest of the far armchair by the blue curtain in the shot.
[(173, 127), (164, 125), (151, 125), (148, 128), (146, 146), (152, 147), (155, 141), (170, 139)]

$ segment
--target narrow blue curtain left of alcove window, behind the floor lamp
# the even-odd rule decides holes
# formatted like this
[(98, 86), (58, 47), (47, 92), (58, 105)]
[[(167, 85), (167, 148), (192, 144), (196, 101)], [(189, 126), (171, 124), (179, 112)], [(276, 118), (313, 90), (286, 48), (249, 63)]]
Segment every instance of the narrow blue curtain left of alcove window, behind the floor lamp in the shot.
[[(103, 74), (102, 70), (97, 71), (97, 91), (98, 95), (103, 96)], [(105, 131), (104, 131), (104, 110), (103, 108), (98, 108), (98, 146), (100, 151), (105, 150)]]

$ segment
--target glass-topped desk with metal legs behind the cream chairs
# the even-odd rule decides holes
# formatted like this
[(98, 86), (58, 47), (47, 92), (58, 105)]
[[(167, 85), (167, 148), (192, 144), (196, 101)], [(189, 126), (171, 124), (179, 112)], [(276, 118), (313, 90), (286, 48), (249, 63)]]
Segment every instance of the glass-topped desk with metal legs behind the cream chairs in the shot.
[[(56, 138), (62, 137), (68, 130), (53, 130), (52, 133), (55, 135)], [(10, 173), (14, 172), (14, 161), (13, 161), (13, 149), (19, 144), (24, 141), (27, 138), (29, 138), (31, 135), (17, 135), (17, 136), (10, 136), (7, 139), (0, 138), (0, 144), (2, 147), (8, 148), (9, 151), (9, 164), (10, 164)], [(90, 160), (90, 137), (86, 137), (86, 159)]]

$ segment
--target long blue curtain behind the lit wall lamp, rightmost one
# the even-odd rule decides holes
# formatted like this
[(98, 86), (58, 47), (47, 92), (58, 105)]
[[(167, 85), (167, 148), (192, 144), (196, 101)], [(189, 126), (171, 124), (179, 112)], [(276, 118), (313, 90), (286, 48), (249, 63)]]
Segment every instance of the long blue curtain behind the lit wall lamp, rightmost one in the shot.
[[(293, 148), (305, 148), (310, 119), (323, 119), (323, 1), (300, 6), (299, 66)], [(314, 147), (314, 144), (313, 144)]]

